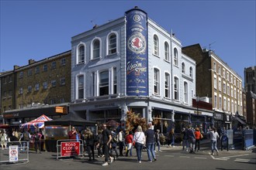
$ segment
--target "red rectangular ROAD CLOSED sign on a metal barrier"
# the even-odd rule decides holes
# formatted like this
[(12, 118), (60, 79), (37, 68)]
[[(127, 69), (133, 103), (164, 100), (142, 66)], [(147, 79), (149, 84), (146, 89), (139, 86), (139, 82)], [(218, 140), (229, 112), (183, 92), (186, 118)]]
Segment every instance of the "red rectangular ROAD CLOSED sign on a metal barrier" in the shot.
[(74, 156), (80, 153), (79, 141), (61, 142), (61, 156)]

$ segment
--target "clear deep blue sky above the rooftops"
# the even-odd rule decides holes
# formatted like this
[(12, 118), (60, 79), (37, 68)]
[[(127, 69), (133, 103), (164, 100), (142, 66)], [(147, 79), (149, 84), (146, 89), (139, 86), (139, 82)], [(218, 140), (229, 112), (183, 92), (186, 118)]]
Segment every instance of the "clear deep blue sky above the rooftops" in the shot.
[(256, 65), (255, 0), (0, 2), (0, 72), (70, 50), (72, 36), (118, 19), (136, 5), (175, 32), (182, 46), (199, 43), (214, 50), (243, 79), (244, 67)]

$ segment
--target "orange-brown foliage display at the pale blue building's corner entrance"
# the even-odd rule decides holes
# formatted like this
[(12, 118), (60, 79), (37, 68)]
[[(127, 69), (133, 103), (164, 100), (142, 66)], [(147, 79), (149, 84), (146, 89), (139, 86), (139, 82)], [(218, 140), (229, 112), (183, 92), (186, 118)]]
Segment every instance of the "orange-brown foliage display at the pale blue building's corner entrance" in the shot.
[(141, 117), (140, 114), (134, 113), (132, 110), (127, 111), (126, 133), (129, 133), (129, 131), (134, 131), (134, 129), (136, 129), (139, 125), (143, 131), (147, 130), (147, 121), (144, 117)]

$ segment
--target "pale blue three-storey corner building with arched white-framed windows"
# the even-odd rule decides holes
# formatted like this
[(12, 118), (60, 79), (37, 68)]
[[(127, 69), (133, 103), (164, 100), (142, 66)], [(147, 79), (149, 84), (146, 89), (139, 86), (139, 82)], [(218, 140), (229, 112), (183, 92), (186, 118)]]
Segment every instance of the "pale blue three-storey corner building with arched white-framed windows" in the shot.
[(71, 110), (101, 123), (123, 122), (132, 110), (163, 132), (189, 124), (195, 60), (140, 8), (72, 37), (71, 46)]

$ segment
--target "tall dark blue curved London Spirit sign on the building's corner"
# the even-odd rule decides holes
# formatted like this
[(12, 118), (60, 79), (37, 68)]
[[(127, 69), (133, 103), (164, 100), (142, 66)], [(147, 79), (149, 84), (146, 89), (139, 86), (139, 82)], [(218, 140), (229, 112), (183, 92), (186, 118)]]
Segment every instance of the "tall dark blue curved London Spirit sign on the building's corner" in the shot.
[(148, 96), (147, 13), (126, 12), (126, 95)]

